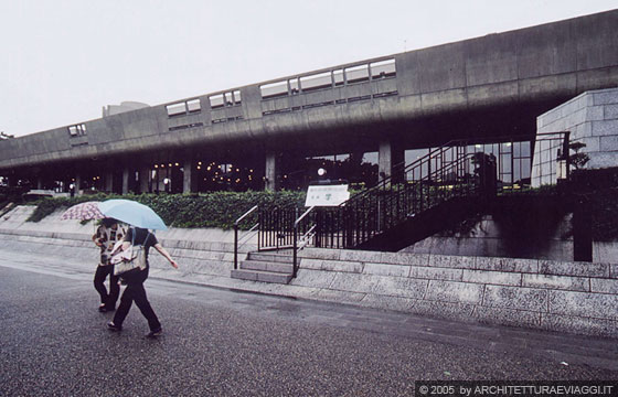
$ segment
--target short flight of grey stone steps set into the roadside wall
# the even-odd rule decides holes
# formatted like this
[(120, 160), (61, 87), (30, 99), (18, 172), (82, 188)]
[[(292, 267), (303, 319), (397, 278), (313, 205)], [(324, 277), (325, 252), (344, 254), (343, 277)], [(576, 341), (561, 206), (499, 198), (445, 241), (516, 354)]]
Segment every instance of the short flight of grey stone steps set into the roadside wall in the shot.
[(292, 278), (292, 267), (291, 254), (248, 253), (238, 269), (232, 270), (232, 278), (287, 285)]

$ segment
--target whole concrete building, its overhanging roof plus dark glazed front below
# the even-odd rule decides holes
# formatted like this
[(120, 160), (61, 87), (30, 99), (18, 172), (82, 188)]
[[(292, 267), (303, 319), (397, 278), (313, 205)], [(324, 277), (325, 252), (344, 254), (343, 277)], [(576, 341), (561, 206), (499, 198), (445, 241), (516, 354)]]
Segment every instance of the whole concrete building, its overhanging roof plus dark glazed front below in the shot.
[(371, 184), (466, 140), (496, 154), (502, 183), (526, 184), (536, 117), (618, 86), (617, 25), (614, 10), (109, 111), (0, 141), (0, 175), (38, 189), (199, 192), (303, 187), (327, 167)]

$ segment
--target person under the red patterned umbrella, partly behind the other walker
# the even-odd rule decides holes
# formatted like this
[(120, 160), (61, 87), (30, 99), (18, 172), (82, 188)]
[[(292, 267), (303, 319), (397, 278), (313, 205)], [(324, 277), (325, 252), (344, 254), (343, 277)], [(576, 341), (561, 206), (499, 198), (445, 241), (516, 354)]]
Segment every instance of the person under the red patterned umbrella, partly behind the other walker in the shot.
[[(108, 312), (116, 309), (116, 301), (120, 293), (118, 277), (114, 276), (114, 266), (109, 264), (111, 249), (116, 242), (122, 240), (126, 229), (118, 225), (114, 218), (103, 218), (100, 225), (93, 235), (93, 242), (100, 248), (99, 264), (93, 280), (95, 289), (100, 297), (98, 311)], [(105, 279), (109, 276), (109, 292), (105, 288)]]

